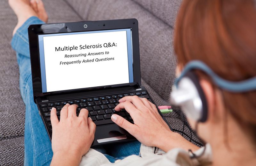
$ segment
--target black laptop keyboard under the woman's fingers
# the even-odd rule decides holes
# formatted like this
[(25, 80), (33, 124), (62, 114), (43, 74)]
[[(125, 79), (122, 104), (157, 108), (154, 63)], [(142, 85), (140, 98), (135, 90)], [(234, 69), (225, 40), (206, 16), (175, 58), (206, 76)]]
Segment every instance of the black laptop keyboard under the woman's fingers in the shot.
[(44, 104), (40, 104), (40, 107), (43, 111), (43, 117), (47, 123), (47, 126), (50, 132), (52, 132), (52, 124), (50, 119), (52, 107), (56, 108), (57, 116), (58, 116), (58, 119), (60, 120), (60, 110), (67, 103), (70, 105), (72, 104), (78, 105), (76, 109), (77, 116), (79, 115), (79, 112), (81, 111), (81, 109), (86, 108), (89, 111), (88, 117), (92, 118), (96, 126), (113, 124), (114, 122), (111, 120), (112, 114), (118, 114), (124, 117), (124, 119), (133, 123), (133, 120), (128, 112), (126, 112), (124, 109), (117, 112), (114, 110), (114, 108), (116, 107), (116, 105), (119, 104), (118, 101), (122, 97), (135, 96), (135, 95), (137, 95), (138, 97), (143, 97), (143, 98), (145, 97), (149, 101), (151, 101), (148, 97), (147, 92), (141, 91), (141, 92), (134, 92), (134, 93), (116, 94), (116, 95), (110, 95), (110, 96), (100, 96), (100, 97), (44, 103)]

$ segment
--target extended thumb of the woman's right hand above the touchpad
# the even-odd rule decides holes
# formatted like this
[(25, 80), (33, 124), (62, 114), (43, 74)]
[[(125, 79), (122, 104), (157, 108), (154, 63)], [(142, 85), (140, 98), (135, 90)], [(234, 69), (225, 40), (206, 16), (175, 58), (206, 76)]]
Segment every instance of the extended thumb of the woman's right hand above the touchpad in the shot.
[(136, 132), (136, 125), (133, 125), (123, 117), (113, 114), (111, 116), (111, 120), (115, 122), (118, 126), (124, 128), (126, 131), (128, 131), (130, 134), (134, 134)]

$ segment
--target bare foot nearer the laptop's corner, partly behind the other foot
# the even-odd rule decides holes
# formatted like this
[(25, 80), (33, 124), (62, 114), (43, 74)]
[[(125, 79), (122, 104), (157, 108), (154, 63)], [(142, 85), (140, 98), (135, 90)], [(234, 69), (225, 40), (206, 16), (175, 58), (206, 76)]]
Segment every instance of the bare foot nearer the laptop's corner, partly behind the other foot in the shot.
[(38, 18), (45, 23), (48, 21), (48, 15), (44, 9), (44, 3), (42, 0), (31, 0), (30, 1), (31, 7), (36, 11)]

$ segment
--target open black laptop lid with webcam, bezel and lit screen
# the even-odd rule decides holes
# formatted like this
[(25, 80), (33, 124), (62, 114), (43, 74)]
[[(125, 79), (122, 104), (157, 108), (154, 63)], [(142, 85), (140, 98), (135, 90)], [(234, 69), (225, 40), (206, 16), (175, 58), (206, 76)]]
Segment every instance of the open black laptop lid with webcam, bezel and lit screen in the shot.
[(34, 99), (141, 85), (138, 21), (28, 27)]

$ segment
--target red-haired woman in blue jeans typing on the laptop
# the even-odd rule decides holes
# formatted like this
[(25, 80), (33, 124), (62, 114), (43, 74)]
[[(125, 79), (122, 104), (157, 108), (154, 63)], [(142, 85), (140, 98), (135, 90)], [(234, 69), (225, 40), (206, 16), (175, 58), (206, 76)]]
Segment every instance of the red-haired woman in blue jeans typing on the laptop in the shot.
[[(95, 124), (88, 118), (86, 109), (76, 117), (75, 105), (64, 106), (60, 121), (56, 110), (52, 110), (51, 145), (33, 102), (27, 34), (28, 25), (46, 22), (47, 14), (41, 0), (38, 3), (9, 0), (9, 4), (18, 17), (12, 47), (17, 52), (20, 90), (26, 104), (25, 165), (112, 165), (116, 159), (122, 160), (115, 165), (255, 165), (255, 89), (223, 90), (199, 70), (195, 74), (207, 101), (208, 114), (205, 122), (189, 121), (208, 143), (205, 148), (198, 149), (180, 134), (171, 132), (156, 106), (138, 97), (124, 97), (115, 108), (116, 111), (125, 108), (134, 124), (118, 115), (112, 115), (111, 119), (136, 137), (141, 146), (135, 141), (116, 144), (108, 152), (106, 148), (90, 149)], [(175, 26), (177, 73), (188, 62), (200, 60), (229, 81), (255, 77), (255, 18), (253, 0), (184, 0)], [(167, 153), (156, 155), (153, 147)], [(188, 153), (188, 149), (193, 153)]]

